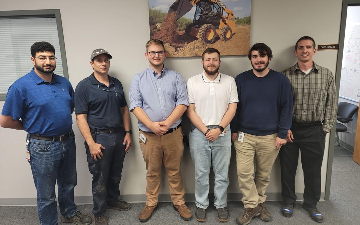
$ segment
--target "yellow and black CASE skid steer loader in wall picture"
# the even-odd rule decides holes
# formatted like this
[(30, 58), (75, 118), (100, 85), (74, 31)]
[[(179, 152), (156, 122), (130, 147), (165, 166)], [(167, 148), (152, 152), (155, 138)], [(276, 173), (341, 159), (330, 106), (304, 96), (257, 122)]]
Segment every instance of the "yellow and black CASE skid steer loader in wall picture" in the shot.
[(178, 20), (194, 5), (196, 9), (193, 23), (186, 26), (185, 33), (207, 44), (215, 41), (216, 34), (222, 41), (231, 39), (235, 31), (234, 12), (220, 0), (176, 0), (170, 6), (168, 13), (176, 12), (175, 19)]

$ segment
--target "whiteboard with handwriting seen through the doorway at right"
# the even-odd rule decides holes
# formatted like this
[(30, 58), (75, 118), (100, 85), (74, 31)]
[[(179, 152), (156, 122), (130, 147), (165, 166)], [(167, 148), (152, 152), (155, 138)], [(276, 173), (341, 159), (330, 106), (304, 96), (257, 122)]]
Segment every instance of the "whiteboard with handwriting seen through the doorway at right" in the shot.
[(359, 102), (360, 95), (360, 6), (348, 6), (339, 96)]

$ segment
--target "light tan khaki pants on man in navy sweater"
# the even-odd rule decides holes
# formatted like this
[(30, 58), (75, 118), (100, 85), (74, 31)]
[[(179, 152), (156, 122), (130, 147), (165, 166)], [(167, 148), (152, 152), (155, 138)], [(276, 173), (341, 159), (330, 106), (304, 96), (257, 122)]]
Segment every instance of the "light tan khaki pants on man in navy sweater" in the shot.
[(239, 187), (245, 208), (255, 208), (266, 200), (265, 191), (270, 183), (271, 168), (279, 153), (275, 147), (277, 136), (277, 133), (266, 136), (244, 134), (243, 142), (234, 142)]

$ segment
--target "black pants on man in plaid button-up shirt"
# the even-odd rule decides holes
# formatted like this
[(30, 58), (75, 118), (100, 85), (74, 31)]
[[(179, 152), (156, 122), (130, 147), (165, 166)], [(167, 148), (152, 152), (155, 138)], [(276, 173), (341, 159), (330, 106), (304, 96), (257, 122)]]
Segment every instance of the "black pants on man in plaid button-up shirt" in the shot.
[(301, 152), (301, 164), (304, 172), (304, 202), (307, 207), (316, 208), (321, 193), (321, 164), (325, 148), (325, 133), (321, 123), (312, 126), (293, 124), (294, 140), (280, 148), (281, 192), (284, 204), (296, 201), (295, 174)]

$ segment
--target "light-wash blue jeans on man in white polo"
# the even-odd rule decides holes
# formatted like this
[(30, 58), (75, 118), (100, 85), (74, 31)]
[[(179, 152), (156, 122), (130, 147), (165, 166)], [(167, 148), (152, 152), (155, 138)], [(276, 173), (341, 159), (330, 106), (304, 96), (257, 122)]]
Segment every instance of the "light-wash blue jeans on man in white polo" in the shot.
[[(207, 126), (215, 129), (217, 125)], [(226, 134), (215, 141), (209, 141), (193, 124), (190, 130), (190, 153), (195, 166), (195, 204), (206, 209), (209, 206), (210, 166), (215, 174), (215, 208), (226, 207), (229, 186), (229, 165), (231, 155), (231, 131), (226, 127)]]

